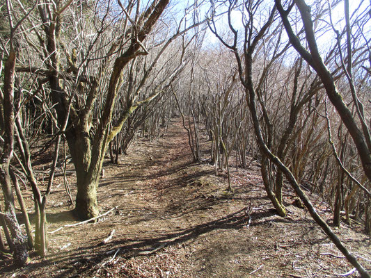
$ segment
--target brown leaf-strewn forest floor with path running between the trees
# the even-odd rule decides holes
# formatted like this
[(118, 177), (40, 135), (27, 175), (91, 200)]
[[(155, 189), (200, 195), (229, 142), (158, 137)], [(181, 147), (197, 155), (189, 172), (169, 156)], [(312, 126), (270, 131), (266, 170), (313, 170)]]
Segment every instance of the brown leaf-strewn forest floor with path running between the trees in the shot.
[[(201, 144), (206, 150), (210, 142)], [(347, 275), (352, 265), (308, 212), (294, 206), (292, 190), (285, 189), (288, 216), (281, 218), (254, 161), (246, 170), (231, 168), (229, 193), (225, 173), (192, 162), (179, 121), (158, 140), (139, 138), (104, 170), (98, 200), (102, 213), (111, 211), (77, 224), (58, 177), (47, 206), (47, 258), (33, 255), (22, 269), (3, 260), (0, 277), (357, 277)], [(74, 196), (74, 175), (68, 179)], [(31, 204), (31, 193), (25, 197)], [(329, 207), (319, 197), (313, 203), (331, 224)], [(370, 238), (354, 225), (342, 223), (336, 234), (371, 270)]]

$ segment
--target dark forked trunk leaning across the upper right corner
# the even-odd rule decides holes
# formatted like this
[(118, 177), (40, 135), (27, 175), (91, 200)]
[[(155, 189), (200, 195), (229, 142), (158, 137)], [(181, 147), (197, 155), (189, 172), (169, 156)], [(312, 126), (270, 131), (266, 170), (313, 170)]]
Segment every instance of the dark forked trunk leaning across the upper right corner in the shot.
[[(357, 117), (360, 124), (357, 124), (355, 118), (353, 117), (349, 108), (344, 102), (344, 98), (340, 95), (338, 88), (336, 87), (336, 83), (333, 77), (333, 74), (329, 71), (326, 65), (323, 62), (322, 56), (319, 53), (317, 40), (315, 38), (315, 31), (313, 29), (313, 19), (312, 14), (310, 13), (310, 6), (306, 5), (306, 2), (303, 0), (295, 0), (292, 1), (289, 8), (284, 10), (281, 1), (276, 0), (276, 6), (278, 8), (278, 12), (281, 15), (283, 20), (283, 25), (285, 26), (287, 35), (290, 38), (290, 42), (294, 49), (301, 55), (301, 57), (306, 60), (306, 62), (313, 67), (313, 69), (317, 72), (319, 79), (321, 79), (324, 88), (326, 90), (326, 94), (329, 97), (331, 103), (338, 111), (342, 122), (344, 122), (345, 126), (352, 136), (356, 148), (358, 150), (358, 154), (361, 158), (363, 170), (371, 180), (371, 139), (370, 139), (370, 132), (368, 129), (368, 124), (365, 121), (365, 115), (363, 111), (363, 104), (361, 103), (360, 99), (356, 95), (356, 90), (354, 87), (354, 79), (352, 75), (352, 41), (351, 41), (351, 23), (349, 19), (349, 1), (345, 0), (345, 19), (346, 19), (346, 35), (347, 35), (347, 65), (345, 65), (343, 54), (340, 51), (336, 53), (339, 55), (340, 60), (343, 64), (343, 70), (345, 70), (345, 74), (349, 81), (349, 86), (352, 92), (352, 98), (354, 101), (354, 106), (356, 107)], [(292, 26), (288, 19), (288, 15), (293, 7), (297, 7), (299, 13), (301, 15), (301, 19), (303, 22), (303, 27), (306, 33), (306, 43), (308, 43), (309, 49), (307, 50), (303, 47), (302, 43), (300, 42), (297, 35), (294, 34), (292, 31)], [(364, 20), (361, 24), (365, 24)], [(340, 35), (340, 33), (338, 33)], [(340, 38), (338, 38), (339, 40)]]

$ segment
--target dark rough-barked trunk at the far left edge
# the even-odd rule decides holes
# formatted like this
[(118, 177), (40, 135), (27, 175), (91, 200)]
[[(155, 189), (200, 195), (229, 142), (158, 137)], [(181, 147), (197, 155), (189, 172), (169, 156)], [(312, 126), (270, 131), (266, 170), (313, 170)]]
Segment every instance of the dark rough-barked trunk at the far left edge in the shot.
[[(15, 137), (15, 106), (14, 106), (14, 84), (15, 84), (15, 65), (17, 63), (19, 26), (29, 17), (31, 11), (37, 6), (38, 1), (31, 8), (29, 13), (17, 20), (17, 17), (11, 13), (13, 5), (11, 1), (6, 1), (7, 19), (9, 22), (9, 37), (8, 42), (2, 41), (2, 51), (8, 56), (4, 65), (3, 72), (3, 90), (0, 94), (0, 127), (1, 127), (1, 147), (2, 154), (0, 156), (0, 183), (5, 199), (5, 213), (1, 213), (5, 217), (10, 233), (13, 238), (13, 258), (15, 265), (24, 265), (28, 259), (27, 237), (23, 234), (21, 227), (15, 215), (15, 204), (12, 189), (12, 179), (10, 163), (14, 156), (14, 137)], [(8, 49), (6, 49), (8, 44)], [(1, 67), (2, 70), (2, 67)]]

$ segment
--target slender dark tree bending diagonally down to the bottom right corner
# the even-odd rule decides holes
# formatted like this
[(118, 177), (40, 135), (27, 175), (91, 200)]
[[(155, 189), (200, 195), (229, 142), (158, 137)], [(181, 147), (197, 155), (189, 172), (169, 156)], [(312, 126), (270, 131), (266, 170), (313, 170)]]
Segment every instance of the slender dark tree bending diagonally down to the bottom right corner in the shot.
[[(302, 2), (302, 1), (295, 1), (294, 3), (299, 3), (299, 2)], [(279, 1), (276, 1), (277, 5), (278, 5), (278, 3), (279, 3)], [(292, 3), (292, 5), (289, 7), (289, 9), (287, 11), (283, 10), (283, 8), (281, 6), (278, 6), (278, 10), (281, 13), (281, 17), (283, 17), (283, 21), (284, 21), (284, 25), (285, 25), (286, 29), (288, 27), (290, 27), (290, 24), (288, 23), (288, 20), (287, 20), (287, 13), (290, 12), (292, 7), (294, 6), (294, 3)], [(303, 193), (303, 190), (301, 190), (297, 179), (294, 177), (294, 174), (292, 174), (290, 169), (285, 165), (285, 163), (283, 161), (280, 160), (280, 158), (278, 158), (278, 156), (276, 156), (275, 154), (272, 153), (271, 148), (269, 147), (269, 145), (267, 145), (267, 141), (262, 136), (262, 129), (261, 129), (260, 121), (259, 121), (259, 118), (258, 118), (258, 111), (257, 111), (257, 105), (256, 105), (257, 91), (256, 91), (256, 88), (254, 87), (254, 82), (253, 82), (253, 55), (255, 54), (255, 51), (258, 49), (258, 45), (260, 44), (261, 40), (269, 32), (269, 28), (271, 28), (271, 26), (274, 22), (275, 15), (276, 15), (276, 6), (274, 6), (273, 8), (270, 8), (270, 13), (265, 15), (266, 19), (265, 19), (264, 23), (260, 24), (260, 26), (257, 27), (254, 24), (254, 20), (255, 20), (255, 16), (258, 15), (256, 12), (258, 11), (258, 7), (260, 5), (262, 5), (262, 1), (246, 1), (246, 2), (243, 3), (243, 5), (244, 5), (244, 13), (243, 14), (245, 15), (245, 17), (244, 17), (243, 48), (242, 48), (243, 52), (242, 52), (242, 54), (240, 54), (240, 48), (239, 48), (239, 45), (237, 44), (237, 42), (239, 42), (239, 35), (238, 35), (238, 32), (237, 32), (236, 28), (232, 25), (232, 22), (231, 22), (231, 11), (232, 11), (233, 8), (235, 8), (236, 5), (237, 4), (235, 2), (230, 2), (229, 6), (228, 6), (228, 25), (230, 27), (230, 31), (232, 32), (232, 40), (230, 40), (231, 42), (223, 39), (217, 33), (215, 25), (212, 26), (212, 31), (219, 38), (219, 40), (221, 40), (221, 42), (223, 42), (223, 44), (226, 47), (228, 47), (229, 49), (231, 49), (235, 54), (235, 58), (237, 60), (237, 65), (238, 65), (238, 69), (239, 69), (239, 77), (240, 77), (240, 80), (242, 82), (242, 85), (244, 85), (244, 88), (246, 90), (246, 102), (248, 104), (248, 108), (250, 110), (251, 117), (252, 117), (252, 120), (253, 120), (255, 136), (256, 136), (256, 140), (258, 142), (258, 145), (260, 147), (260, 152), (261, 152), (262, 156), (267, 157), (267, 159), (269, 159), (269, 161), (274, 163), (274, 165), (276, 165), (276, 167), (278, 167), (278, 170), (283, 172), (287, 181), (290, 182), (290, 185), (292, 186), (292, 188), (294, 188), (295, 192), (300, 197), (301, 201), (308, 208), (308, 211), (310, 212), (310, 215), (312, 215), (313, 219), (317, 222), (317, 224), (319, 224), (319, 226), (323, 229), (323, 231), (327, 234), (327, 236), (329, 236), (329, 238), (331, 238), (331, 240), (338, 247), (340, 252), (342, 252), (342, 254), (344, 254), (346, 256), (346, 258), (349, 260), (349, 262), (352, 263), (352, 265), (354, 265), (354, 267), (358, 270), (358, 272), (360, 272), (361, 277), (370, 277), (370, 275), (363, 268), (363, 266), (358, 263), (356, 258), (352, 254), (349, 253), (349, 251), (347, 250), (345, 245), (343, 245), (341, 243), (341, 241), (336, 236), (336, 234), (334, 234), (333, 231), (331, 231), (330, 227), (326, 224), (326, 222), (324, 222), (324, 220), (322, 220), (322, 218), (320, 218), (317, 211), (313, 207), (313, 204), (311, 204), (311, 202), (308, 199), (308, 197), (306, 196), (306, 194)], [(300, 8), (299, 8), (299, 10), (300, 10)], [(303, 12), (308, 13), (308, 7), (303, 7), (303, 10), (301, 10), (301, 13), (303, 13)], [(261, 15), (261, 17), (262, 17), (262, 15)], [(260, 17), (260, 22), (261, 22), (261, 17)], [(304, 21), (306, 19), (308, 19), (308, 18), (306, 17), (304, 19)], [(286, 20), (286, 22), (285, 22), (285, 20)], [(313, 24), (313, 23), (310, 22), (310, 24)], [(310, 26), (312, 26), (312, 25), (310, 25)], [(305, 23), (304, 23), (304, 29), (306, 31), (306, 35), (307, 35), (307, 39), (308, 39), (308, 26), (306, 26)], [(291, 30), (291, 28), (290, 28), (290, 30)], [(313, 29), (310, 29), (310, 30), (311, 30), (311, 33), (309, 32), (309, 35), (314, 38)], [(292, 30), (291, 30), (291, 33), (289, 33), (289, 36), (290, 36), (290, 41), (291, 42), (299, 42), (299, 40), (297, 39), (297, 34), (294, 34), (292, 32)], [(309, 36), (309, 38), (310, 38), (310, 36)], [(311, 42), (308, 42), (308, 43), (310, 44)], [(300, 47), (301, 47), (301, 44), (300, 44)], [(312, 48), (312, 47), (313, 47), (313, 45), (310, 46), (310, 48)], [(300, 49), (300, 50), (302, 50), (302, 49)], [(317, 47), (315, 46), (315, 49), (313, 49), (313, 50), (317, 50)], [(323, 65), (322, 60), (315, 59), (315, 60), (317, 60), (317, 62), (313, 63), (313, 60), (309, 59), (307, 54), (306, 54), (306, 56), (303, 56), (303, 58), (305, 60), (308, 59), (308, 63), (312, 66), (313, 65), (317, 66), (318, 65), (317, 62), (319, 62), (319, 61)], [(323, 67), (319, 67), (319, 69), (323, 70)], [(328, 72), (328, 71), (326, 71), (326, 72)], [(329, 83), (326, 83), (325, 81), (329, 81), (329, 80), (324, 80), (321, 76), (321, 73), (323, 74), (323, 71), (322, 72), (317, 72), (317, 74), (319, 75), (319, 78), (322, 79), (322, 83), (324, 83), (324, 87), (326, 88), (326, 85), (329, 85)], [(331, 76), (331, 74), (329, 74), (329, 75)], [(326, 76), (327, 76), (327, 78), (329, 78), (328, 75), (326, 75)], [(332, 77), (331, 77), (331, 81), (333, 81)], [(333, 87), (329, 86), (329, 88), (334, 88), (334, 86)], [(326, 90), (327, 90), (327, 88), (326, 88)], [(332, 91), (332, 92), (335, 93), (336, 91)], [(332, 95), (332, 97), (334, 97), (334, 100), (336, 99), (335, 95)], [(343, 119), (343, 120), (345, 120), (345, 119)], [(358, 138), (358, 139), (361, 140), (361, 138)], [(361, 140), (361, 141), (363, 141), (363, 143), (364, 143), (363, 147), (367, 147), (365, 145), (365, 140)], [(364, 151), (365, 150), (366, 149), (364, 149)], [(366, 155), (363, 155), (363, 156), (370, 156), (369, 152), (367, 152)], [(367, 161), (367, 159), (366, 159), (366, 161)], [(267, 193), (269, 193), (269, 190), (267, 190)], [(285, 215), (285, 212), (283, 211), (284, 208), (281, 207), (278, 200), (276, 199), (276, 196), (274, 196), (273, 194), (269, 194), (269, 195), (272, 195), (270, 197), (270, 199), (273, 202), (275, 208), (278, 211), (281, 210), (283, 212), (283, 215)]]

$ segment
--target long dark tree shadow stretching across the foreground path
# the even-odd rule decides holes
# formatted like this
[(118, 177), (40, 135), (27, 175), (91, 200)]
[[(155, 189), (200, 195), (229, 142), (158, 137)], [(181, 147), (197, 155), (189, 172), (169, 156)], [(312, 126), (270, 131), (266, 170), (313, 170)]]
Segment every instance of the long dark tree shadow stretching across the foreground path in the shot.
[[(69, 213), (66, 212), (65, 214), (68, 215)], [(251, 226), (261, 226), (271, 222), (292, 222), (292, 220), (287, 220), (285, 218), (274, 218), (272, 220), (271, 216), (274, 215), (276, 215), (274, 209), (251, 213), (251, 218), (253, 219)], [(300, 221), (308, 222), (308, 220), (304, 219)], [(174, 229), (173, 231), (169, 231), (167, 234), (162, 234), (161, 236), (154, 233), (152, 235), (145, 234), (141, 238), (123, 238), (120, 240), (113, 240), (111, 243), (102, 246), (92, 243), (88, 247), (77, 248), (77, 250), (73, 250), (72, 252), (58, 252), (58, 254), (50, 256), (49, 259), (45, 261), (32, 263), (27, 266), (26, 269), (31, 270), (32, 268), (45, 267), (46, 265), (56, 263), (61, 265), (61, 270), (56, 273), (54, 277), (79, 277), (82, 274), (86, 274), (87, 271), (94, 270), (97, 265), (111, 257), (113, 252), (116, 252), (116, 250), (120, 250), (118, 252), (119, 256), (129, 259), (130, 257), (140, 255), (143, 251), (155, 250), (155, 248), (159, 246), (168, 247), (179, 243), (185, 243), (197, 238), (198, 236), (210, 233), (211, 231), (246, 229), (247, 223), (248, 216), (246, 215), (246, 208), (242, 208), (239, 211), (230, 213), (222, 218), (198, 224), (186, 229)], [(77, 268), (76, 265), (80, 265), (79, 268)], [(3, 271), (9, 270), (1, 270), (1, 272)]]

